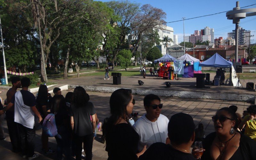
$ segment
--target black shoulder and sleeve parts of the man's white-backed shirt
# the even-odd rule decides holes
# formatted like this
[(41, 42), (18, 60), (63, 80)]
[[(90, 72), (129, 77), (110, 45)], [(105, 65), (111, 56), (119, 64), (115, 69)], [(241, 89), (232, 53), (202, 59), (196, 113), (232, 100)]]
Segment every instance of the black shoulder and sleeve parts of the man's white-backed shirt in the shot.
[[(29, 106), (29, 107), (36, 106), (36, 98), (33, 93), (26, 90), (20, 90), (20, 93), (22, 95), (23, 102), (26, 106)], [(15, 103), (15, 94), (12, 96), (12, 100), (11, 100), (13, 104)]]

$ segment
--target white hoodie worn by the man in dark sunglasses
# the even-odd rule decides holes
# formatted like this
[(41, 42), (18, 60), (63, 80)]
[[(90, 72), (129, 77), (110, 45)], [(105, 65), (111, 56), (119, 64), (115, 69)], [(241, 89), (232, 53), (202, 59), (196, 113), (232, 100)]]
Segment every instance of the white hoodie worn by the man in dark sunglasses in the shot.
[(169, 119), (162, 114), (160, 114), (156, 122), (149, 121), (146, 114), (141, 116), (132, 126), (140, 136), (139, 152), (147, 145), (148, 140), (152, 140), (153, 143), (165, 143), (168, 138), (168, 123)]

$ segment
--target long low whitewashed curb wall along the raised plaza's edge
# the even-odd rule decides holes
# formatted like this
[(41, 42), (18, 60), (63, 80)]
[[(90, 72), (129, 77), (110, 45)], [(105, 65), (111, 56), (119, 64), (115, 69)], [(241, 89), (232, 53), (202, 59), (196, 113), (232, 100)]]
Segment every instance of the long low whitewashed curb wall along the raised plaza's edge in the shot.
[[(121, 87), (103, 87), (103, 86), (84, 86), (84, 85), (68, 85), (74, 89), (76, 86), (82, 86), (86, 91), (92, 92), (107, 92), (112, 93)], [(206, 93), (192, 91), (166, 91), (166, 90), (150, 90), (150, 89), (131, 89), (132, 94), (147, 95), (155, 94), (157, 96), (178, 97), (178, 98), (195, 98), (195, 99), (210, 99), (210, 100), (233, 100), (233, 101), (255, 101), (255, 96), (252, 94), (236, 94), (236, 93)]]

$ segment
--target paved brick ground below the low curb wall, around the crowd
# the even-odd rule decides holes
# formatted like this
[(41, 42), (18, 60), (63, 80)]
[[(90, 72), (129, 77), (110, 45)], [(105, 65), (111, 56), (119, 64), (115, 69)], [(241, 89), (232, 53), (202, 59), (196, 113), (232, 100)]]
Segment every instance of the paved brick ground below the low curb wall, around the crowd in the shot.
[[(0, 96), (5, 99), (6, 89)], [(73, 92), (73, 90), (62, 91), (62, 94), (65, 96), (67, 92)], [(109, 98), (111, 93), (104, 92), (88, 92), (90, 95), (90, 101), (94, 104), (99, 120), (103, 122), (104, 118), (110, 116), (109, 109)], [(136, 101), (133, 112), (139, 112), (139, 117), (146, 113), (143, 106), (144, 95), (133, 95)], [(205, 135), (208, 135), (211, 132), (214, 132), (213, 122), (211, 117), (216, 113), (219, 108), (228, 107), (230, 105), (236, 105), (238, 107), (237, 112), (241, 113), (248, 107), (246, 102), (237, 102), (237, 101), (222, 101), (222, 100), (204, 100), (204, 99), (187, 99), (187, 98), (170, 98), (170, 97), (160, 97), (161, 103), (164, 104), (162, 108), (162, 114), (167, 116), (169, 119), (172, 115), (183, 112), (188, 113), (194, 118), (196, 125), (199, 123), (204, 124)], [(4, 120), (4, 132), (6, 136), (5, 141), (0, 141), (0, 154), (2, 160), (7, 159), (25, 159), (21, 158), (20, 155), (14, 154), (11, 152), (11, 143), (8, 135), (8, 130), (6, 126), (6, 121)], [(52, 155), (41, 155), (41, 133), (42, 130), (36, 131), (35, 137), (35, 151), (40, 153), (40, 156), (37, 159), (54, 159), (55, 154)], [(93, 160), (107, 159), (108, 154), (105, 151), (105, 144), (99, 142), (102, 132), (97, 133), (97, 138), (93, 142), (92, 154)], [(56, 148), (55, 138), (49, 138), (49, 147), (53, 149)], [(84, 153), (83, 153), (84, 154)]]

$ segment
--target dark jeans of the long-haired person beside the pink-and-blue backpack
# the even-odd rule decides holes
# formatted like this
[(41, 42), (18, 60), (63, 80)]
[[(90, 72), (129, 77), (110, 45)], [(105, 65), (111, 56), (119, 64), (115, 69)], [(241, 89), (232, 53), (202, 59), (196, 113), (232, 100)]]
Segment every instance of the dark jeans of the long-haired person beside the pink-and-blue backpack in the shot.
[(61, 139), (55, 136), (57, 141), (57, 159), (62, 159), (62, 153), (64, 153), (67, 160), (71, 159), (71, 133), (68, 129), (62, 125), (57, 126), (58, 133), (61, 135)]

